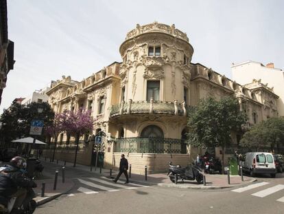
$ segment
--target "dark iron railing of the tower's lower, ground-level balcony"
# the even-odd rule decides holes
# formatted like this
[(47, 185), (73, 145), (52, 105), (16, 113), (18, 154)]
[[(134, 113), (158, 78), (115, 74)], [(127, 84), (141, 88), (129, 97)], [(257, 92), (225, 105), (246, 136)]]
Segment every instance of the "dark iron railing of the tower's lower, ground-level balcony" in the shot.
[(115, 151), (123, 153), (187, 153), (185, 141), (172, 138), (119, 138), (115, 145)]

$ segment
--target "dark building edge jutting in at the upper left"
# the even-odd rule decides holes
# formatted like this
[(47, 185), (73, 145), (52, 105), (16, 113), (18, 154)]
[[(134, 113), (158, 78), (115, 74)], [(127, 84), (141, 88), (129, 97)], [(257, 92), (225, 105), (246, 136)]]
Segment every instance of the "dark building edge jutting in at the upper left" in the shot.
[(14, 42), (8, 39), (7, 1), (0, 1), (0, 105), (7, 75), (14, 69)]

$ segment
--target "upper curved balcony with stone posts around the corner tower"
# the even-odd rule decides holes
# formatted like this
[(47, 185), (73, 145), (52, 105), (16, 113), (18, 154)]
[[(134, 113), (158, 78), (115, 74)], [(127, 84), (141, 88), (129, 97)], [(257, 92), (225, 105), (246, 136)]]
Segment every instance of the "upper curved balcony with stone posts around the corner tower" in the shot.
[(110, 117), (124, 114), (167, 114), (176, 116), (188, 116), (191, 107), (185, 103), (166, 101), (135, 101), (128, 100), (128, 103), (112, 105), (110, 107)]

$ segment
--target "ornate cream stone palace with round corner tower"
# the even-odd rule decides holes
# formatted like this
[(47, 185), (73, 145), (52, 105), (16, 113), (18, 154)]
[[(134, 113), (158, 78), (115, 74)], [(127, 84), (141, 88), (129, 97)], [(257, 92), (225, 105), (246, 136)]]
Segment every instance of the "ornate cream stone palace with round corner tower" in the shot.
[[(83, 81), (62, 76), (47, 92), (56, 113), (91, 110), (93, 134), (106, 133), (102, 147), (106, 168), (119, 167), (121, 153), (134, 173), (143, 173), (145, 166), (149, 173), (165, 171), (169, 161), (192, 162), (201, 151), (185, 143), (187, 116), (201, 98), (234, 95), (248, 115), (247, 126), (278, 115), (279, 97), (261, 81), (239, 85), (209, 67), (191, 63), (193, 47), (175, 25), (137, 24), (119, 52), (121, 63), (114, 62)], [(239, 136), (235, 133), (232, 138), (237, 145)], [(58, 137), (57, 159), (73, 160), (72, 139), (65, 133)], [(91, 164), (92, 142), (88, 136), (80, 138), (78, 163)], [(51, 155), (51, 150), (44, 152)], [(233, 148), (211, 152), (231, 156)]]

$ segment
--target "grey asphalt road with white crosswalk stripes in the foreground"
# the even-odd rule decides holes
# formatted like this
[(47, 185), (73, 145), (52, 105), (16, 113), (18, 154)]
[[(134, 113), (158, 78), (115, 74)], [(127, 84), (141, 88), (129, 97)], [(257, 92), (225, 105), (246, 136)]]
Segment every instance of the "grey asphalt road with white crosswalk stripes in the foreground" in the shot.
[(123, 183), (115, 186), (101, 177), (74, 181), (69, 195), (38, 207), (35, 213), (284, 213), (284, 174), (258, 178), (259, 186), (253, 189), (203, 191)]

